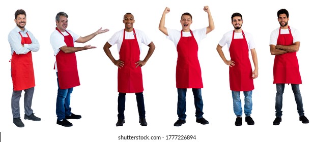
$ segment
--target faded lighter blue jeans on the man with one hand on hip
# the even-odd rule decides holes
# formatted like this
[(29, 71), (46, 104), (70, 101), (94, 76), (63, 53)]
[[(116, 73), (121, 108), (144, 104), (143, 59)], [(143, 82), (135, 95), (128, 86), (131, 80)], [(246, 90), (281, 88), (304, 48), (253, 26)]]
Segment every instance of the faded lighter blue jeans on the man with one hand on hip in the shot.
[[(244, 114), (246, 116), (250, 116), (252, 111), (252, 91), (243, 91), (244, 94)], [(233, 105), (234, 105), (234, 113), (237, 117), (241, 117), (242, 108), (241, 108), (241, 100), (240, 100), (240, 91), (232, 91), (233, 95)]]

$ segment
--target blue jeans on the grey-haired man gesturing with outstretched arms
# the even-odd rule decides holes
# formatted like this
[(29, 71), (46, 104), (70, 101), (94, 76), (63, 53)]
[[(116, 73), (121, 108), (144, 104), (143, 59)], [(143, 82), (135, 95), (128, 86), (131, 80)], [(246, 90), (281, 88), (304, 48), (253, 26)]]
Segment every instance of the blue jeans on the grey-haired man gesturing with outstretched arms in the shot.
[[(56, 77), (58, 77), (58, 73), (56, 73)], [(59, 87), (58, 96), (56, 97), (56, 117), (58, 117), (58, 120), (63, 120), (65, 119), (65, 116), (69, 116), (72, 114), (70, 102), (73, 88), (60, 89), (59, 79), (56, 78), (56, 81), (58, 82)]]

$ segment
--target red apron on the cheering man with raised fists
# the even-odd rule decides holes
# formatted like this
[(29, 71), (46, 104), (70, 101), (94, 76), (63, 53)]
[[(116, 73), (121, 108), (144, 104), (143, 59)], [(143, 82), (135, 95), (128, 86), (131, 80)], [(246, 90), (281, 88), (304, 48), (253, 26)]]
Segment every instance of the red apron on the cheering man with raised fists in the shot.
[(190, 30), (191, 37), (181, 37), (177, 44), (176, 87), (203, 88), (201, 68), (198, 60), (198, 44)]

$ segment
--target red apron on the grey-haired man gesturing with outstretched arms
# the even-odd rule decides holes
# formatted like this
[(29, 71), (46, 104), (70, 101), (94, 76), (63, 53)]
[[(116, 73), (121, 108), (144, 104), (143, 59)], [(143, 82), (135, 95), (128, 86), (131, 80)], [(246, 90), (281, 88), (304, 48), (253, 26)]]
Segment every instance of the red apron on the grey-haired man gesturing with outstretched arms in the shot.
[[(58, 28), (55, 29), (62, 34)], [(69, 35), (64, 36), (62, 34), (64, 36), (64, 42), (66, 43), (67, 47), (74, 47), (73, 37), (69, 32), (67, 33)], [(75, 86), (79, 86), (80, 83), (75, 52), (64, 53), (62, 50), (60, 50), (59, 53), (56, 54), (55, 58), (56, 66), (58, 67), (58, 80), (60, 89), (69, 89)]]

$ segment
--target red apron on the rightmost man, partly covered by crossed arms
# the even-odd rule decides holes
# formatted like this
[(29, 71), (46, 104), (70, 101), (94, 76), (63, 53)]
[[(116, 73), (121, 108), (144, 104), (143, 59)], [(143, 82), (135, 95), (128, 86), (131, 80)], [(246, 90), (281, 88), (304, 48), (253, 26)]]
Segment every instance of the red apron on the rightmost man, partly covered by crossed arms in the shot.
[[(293, 37), (290, 27), (288, 26), (289, 34), (279, 34), (277, 38), (277, 45), (293, 45)], [(299, 64), (297, 52), (288, 52), (280, 55), (275, 55), (274, 60), (274, 82), (273, 84), (301, 84), (301, 76), (299, 71)]]

